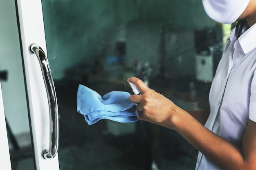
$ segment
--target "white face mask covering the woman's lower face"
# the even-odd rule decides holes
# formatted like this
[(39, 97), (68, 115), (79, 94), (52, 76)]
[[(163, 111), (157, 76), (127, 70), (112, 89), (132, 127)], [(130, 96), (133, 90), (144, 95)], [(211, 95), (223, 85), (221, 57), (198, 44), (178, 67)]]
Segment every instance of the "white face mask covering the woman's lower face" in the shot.
[(250, 0), (202, 0), (207, 15), (217, 22), (232, 24), (245, 11)]

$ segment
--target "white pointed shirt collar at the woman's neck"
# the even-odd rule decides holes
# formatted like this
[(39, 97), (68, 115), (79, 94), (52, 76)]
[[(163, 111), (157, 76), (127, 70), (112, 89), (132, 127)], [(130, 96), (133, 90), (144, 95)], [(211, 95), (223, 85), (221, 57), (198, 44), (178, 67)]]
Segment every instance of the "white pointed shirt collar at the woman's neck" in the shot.
[(239, 43), (245, 54), (256, 48), (256, 24), (247, 29), (239, 38)]

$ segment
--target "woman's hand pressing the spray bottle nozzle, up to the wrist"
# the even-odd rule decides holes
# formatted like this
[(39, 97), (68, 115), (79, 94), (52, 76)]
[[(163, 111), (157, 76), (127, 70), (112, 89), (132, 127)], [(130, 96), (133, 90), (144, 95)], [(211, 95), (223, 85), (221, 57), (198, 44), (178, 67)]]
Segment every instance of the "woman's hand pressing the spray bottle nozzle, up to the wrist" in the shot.
[(134, 83), (141, 92), (141, 95), (130, 96), (130, 101), (137, 103), (139, 119), (148, 119), (155, 123), (162, 123), (171, 119), (174, 110), (177, 109), (171, 100), (151, 90), (136, 77), (130, 77), (127, 81)]

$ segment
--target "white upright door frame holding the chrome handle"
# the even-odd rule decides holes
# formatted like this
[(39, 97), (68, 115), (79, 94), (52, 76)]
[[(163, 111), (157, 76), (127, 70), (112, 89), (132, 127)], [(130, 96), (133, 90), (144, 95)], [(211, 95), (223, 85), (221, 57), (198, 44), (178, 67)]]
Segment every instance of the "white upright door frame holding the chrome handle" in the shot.
[(29, 52), (30, 44), (36, 43), (47, 53), (41, 0), (16, 1), (36, 168), (59, 170), (58, 155), (52, 159), (42, 156), (49, 149), (49, 105), (38, 59)]

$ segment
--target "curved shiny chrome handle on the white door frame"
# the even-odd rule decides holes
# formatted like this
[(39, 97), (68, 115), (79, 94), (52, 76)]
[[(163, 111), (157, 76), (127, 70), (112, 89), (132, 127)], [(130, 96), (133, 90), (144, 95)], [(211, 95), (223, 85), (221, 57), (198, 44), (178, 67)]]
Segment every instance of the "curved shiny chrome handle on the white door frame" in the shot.
[(43, 79), (45, 82), (45, 88), (47, 91), (50, 113), (50, 146), (49, 150), (42, 151), (42, 156), (45, 159), (51, 159), (54, 158), (58, 152), (58, 104), (56, 91), (52, 79), (52, 73), (49, 66), (48, 58), (43, 49), (40, 46), (38, 46), (38, 44), (31, 44), (29, 46), (29, 51), (31, 53), (36, 54), (39, 60), (41, 71), (43, 74)]

